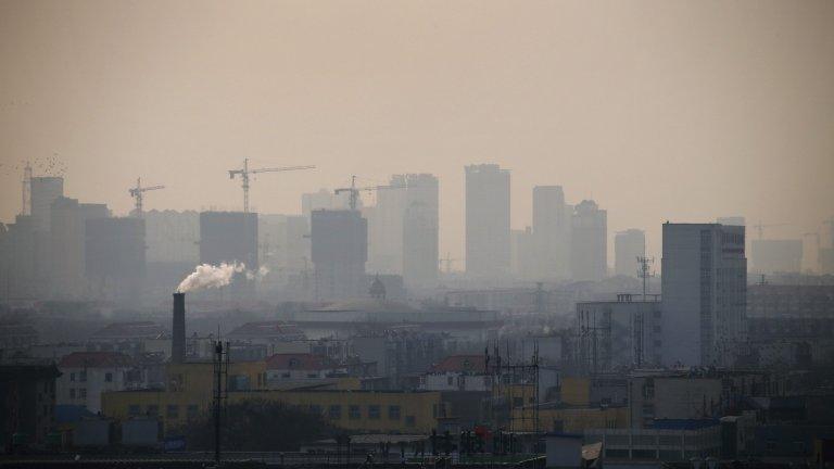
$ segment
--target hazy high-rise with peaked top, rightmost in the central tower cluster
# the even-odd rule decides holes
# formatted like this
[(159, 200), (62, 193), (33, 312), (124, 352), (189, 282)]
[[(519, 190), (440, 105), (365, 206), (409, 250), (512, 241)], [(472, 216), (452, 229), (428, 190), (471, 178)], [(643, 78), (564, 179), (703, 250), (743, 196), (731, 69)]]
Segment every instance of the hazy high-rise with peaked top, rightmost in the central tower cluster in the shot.
[(583, 200), (571, 223), (570, 270), (573, 280), (598, 281), (608, 271), (608, 214), (596, 202)]

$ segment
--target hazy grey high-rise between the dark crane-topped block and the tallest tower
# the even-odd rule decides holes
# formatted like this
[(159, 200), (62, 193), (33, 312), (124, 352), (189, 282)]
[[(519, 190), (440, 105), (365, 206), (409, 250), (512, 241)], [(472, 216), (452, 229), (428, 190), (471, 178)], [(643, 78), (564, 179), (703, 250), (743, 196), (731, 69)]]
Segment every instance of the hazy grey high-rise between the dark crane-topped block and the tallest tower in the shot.
[(440, 195), (438, 178), (409, 174), (405, 178), (403, 213), (403, 281), (410, 289), (434, 287), (440, 261)]

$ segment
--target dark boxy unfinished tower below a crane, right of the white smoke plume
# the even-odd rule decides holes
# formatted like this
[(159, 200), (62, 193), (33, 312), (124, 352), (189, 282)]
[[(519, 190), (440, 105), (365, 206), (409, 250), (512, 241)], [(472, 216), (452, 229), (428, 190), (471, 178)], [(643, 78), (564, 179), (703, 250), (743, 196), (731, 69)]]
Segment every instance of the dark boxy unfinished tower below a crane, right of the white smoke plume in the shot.
[(368, 224), (358, 211), (313, 211), (311, 252), (316, 300), (367, 296)]

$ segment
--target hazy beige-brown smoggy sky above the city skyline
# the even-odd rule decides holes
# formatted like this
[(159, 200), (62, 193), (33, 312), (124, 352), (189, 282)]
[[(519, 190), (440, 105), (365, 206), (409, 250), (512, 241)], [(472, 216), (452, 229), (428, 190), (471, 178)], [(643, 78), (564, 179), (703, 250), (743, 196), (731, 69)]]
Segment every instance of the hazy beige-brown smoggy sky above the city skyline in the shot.
[(491, 162), (517, 228), (563, 185), (653, 253), (666, 219), (798, 238), (834, 214), (834, 1), (1, 0), (0, 142), (3, 221), (27, 159), (124, 214), (138, 176), (168, 187), (147, 208), (240, 210), (250, 157), (318, 165), (260, 176), (265, 213), (433, 173), (462, 257), (463, 166)]

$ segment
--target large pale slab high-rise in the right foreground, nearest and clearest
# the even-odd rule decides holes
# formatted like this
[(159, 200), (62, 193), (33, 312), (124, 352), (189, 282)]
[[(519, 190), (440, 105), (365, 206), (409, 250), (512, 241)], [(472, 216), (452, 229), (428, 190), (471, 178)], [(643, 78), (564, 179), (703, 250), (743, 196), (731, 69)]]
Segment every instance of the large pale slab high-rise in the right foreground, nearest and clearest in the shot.
[(744, 227), (664, 225), (664, 365), (732, 365), (744, 339)]

